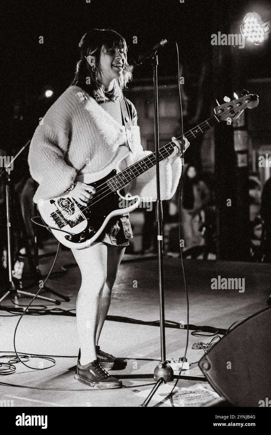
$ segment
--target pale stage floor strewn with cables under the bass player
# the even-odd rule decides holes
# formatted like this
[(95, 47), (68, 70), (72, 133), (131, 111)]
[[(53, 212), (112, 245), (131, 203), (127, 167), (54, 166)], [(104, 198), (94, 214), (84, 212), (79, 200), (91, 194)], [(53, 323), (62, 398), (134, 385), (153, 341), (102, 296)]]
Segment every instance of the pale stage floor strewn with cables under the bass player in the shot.
[[(55, 245), (48, 249), (51, 248), (54, 249)], [(120, 264), (109, 315), (141, 321), (158, 320), (157, 258), (132, 260), (133, 257), (127, 255)], [(41, 264), (42, 272), (48, 272), (52, 262), (53, 257), (44, 259)], [(80, 287), (80, 271), (75, 266), (71, 251), (60, 250), (54, 271), (60, 271), (60, 266), (65, 264), (68, 264), (67, 272), (63, 276), (48, 280), (47, 284), (70, 297), (70, 302), (60, 305), (60, 308), (67, 310), (75, 308)], [(234, 321), (266, 308), (266, 299), (271, 293), (269, 264), (186, 260), (184, 266), (189, 292), (190, 324), (227, 329)], [(238, 289), (212, 290), (211, 278), (217, 278), (218, 275), (221, 278), (244, 278), (244, 292), (239, 292)], [(165, 319), (186, 324), (186, 296), (179, 258), (164, 258), (164, 288)], [(33, 290), (37, 291), (35, 288)], [(29, 300), (20, 299), (19, 304), (24, 305), (26, 301)], [(35, 301), (34, 305), (39, 303)], [(12, 305), (10, 300), (2, 304)], [(1, 315), (9, 316), (4, 311), (1, 311)], [(13, 351), (13, 334), (17, 321), (18, 316), (0, 317), (0, 356)], [(189, 331), (187, 358), (194, 364), (189, 371), (183, 371), (184, 375), (202, 376), (196, 363), (204, 355), (204, 351), (193, 350), (191, 346), (197, 341), (207, 343), (210, 340), (211, 338), (194, 337)], [(186, 330), (166, 328), (168, 359), (183, 356), (185, 343)], [(160, 329), (156, 326), (106, 321), (99, 344), (104, 351), (127, 358), (128, 364), (123, 371), (110, 371), (110, 374), (120, 376), (123, 388), (89, 390), (87, 386), (74, 379), (74, 366), (79, 349), (75, 317), (25, 315), (17, 329), (17, 351), (26, 354), (65, 355), (67, 358), (55, 358), (56, 365), (53, 368), (41, 371), (28, 369), (21, 363), (17, 364), (14, 374), (1, 376), (0, 381), (15, 386), (1, 385), (0, 400), (13, 400), (14, 407), (139, 406), (147, 397), (147, 390), (152, 387), (150, 384), (154, 382), (153, 372), (160, 357)], [(41, 368), (41, 361), (39, 358), (31, 358), (27, 364)], [(43, 364), (46, 367), (52, 363), (43, 360)], [(179, 380), (178, 387), (199, 383), (207, 385), (201, 378), (195, 378), (193, 381)], [(166, 394), (164, 397), (157, 396), (149, 406), (171, 406), (165, 397)]]

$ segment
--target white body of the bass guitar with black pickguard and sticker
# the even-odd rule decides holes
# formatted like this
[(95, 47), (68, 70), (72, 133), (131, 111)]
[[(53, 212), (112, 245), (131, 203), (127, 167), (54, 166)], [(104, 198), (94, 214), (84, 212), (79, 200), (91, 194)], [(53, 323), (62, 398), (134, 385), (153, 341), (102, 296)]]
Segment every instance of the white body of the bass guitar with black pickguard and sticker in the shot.
[[(119, 172), (118, 161), (123, 160), (121, 154), (126, 153), (124, 148), (126, 147), (120, 147), (120, 152), (117, 153), (114, 161), (103, 171), (77, 177), (78, 181), (93, 186), (97, 191), (103, 184), (105, 187), (100, 187), (100, 189), (102, 192), (106, 191), (106, 194), (97, 194), (96, 197), (94, 194), (93, 200), (86, 206), (78, 204), (73, 199), (72, 191), (60, 197), (39, 202), (38, 209), (43, 221), (51, 227), (57, 240), (67, 248), (87, 248), (97, 240), (111, 218), (127, 214), (139, 206), (140, 197), (125, 198), (119, 190), (110, 191), (107, 184), (104, 184)], [(117, 169), (112, 169), (115, 164), (117, 164)]]

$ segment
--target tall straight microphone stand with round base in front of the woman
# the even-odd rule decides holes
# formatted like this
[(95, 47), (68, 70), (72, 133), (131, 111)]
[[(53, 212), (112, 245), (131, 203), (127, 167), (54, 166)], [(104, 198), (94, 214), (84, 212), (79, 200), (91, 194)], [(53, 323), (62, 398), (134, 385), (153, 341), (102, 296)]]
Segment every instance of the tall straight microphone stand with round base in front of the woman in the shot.
[(174, 380), (172, 367), (166, 360), (166, 341), (165, 341), (165, 316), (164, 316), (164, 273), (163, 273), (163, 207), (160, 195), (160, 168), (159, 168), (159, 122), (158, 122), (158, 85), (157, 85), (157, 51), (152, 55), (153, 80), (154, 80), (154, 140), (156, 156), (156, 222), (157, 222), (157, 244), (158, 244), (158, 280), (160, 298), (160, 338), (161, 338), (161, 361), (154, 369), (154, 380), (157, 381), (148, 397), (141, 406), (146, 407), (153, 397), (155, 391), (161, 384)]

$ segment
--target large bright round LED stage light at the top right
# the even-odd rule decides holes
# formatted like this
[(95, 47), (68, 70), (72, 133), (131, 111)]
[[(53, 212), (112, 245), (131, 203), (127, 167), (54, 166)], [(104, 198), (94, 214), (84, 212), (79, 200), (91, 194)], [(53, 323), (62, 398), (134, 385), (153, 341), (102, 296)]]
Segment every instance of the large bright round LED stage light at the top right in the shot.
[(254, 45), (260, 45), (268, 38), (270, 32), (270, 22), (263, 23), (261, 16), (256, 12), (249, 12), (244, 17), (240, 30), (242, 36), (253, 43)]

